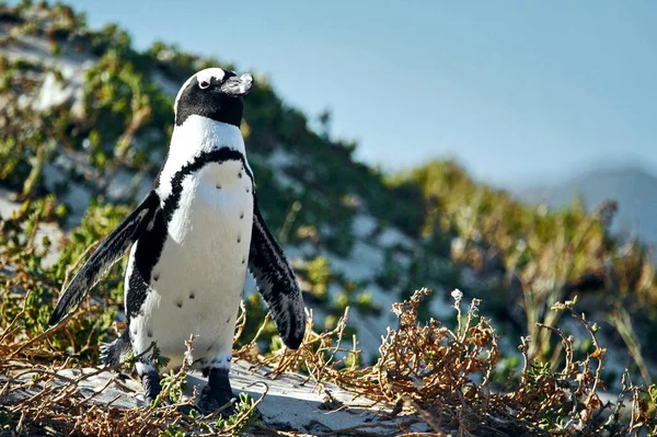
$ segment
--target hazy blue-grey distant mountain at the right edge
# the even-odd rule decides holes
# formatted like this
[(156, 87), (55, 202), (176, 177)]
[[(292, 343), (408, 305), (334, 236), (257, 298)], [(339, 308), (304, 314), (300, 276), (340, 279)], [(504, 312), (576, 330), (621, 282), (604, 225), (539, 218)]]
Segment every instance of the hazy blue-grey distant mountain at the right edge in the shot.
[(618, 202), (612, 230), (638, 234), (647, 243), (657, 243), (657, 176), (639, 165), (599, 168), (552, 186), (514, 189), (523, 202), (546, 202), (562, 207), (581, 195), (587, 209), (606, 199)]

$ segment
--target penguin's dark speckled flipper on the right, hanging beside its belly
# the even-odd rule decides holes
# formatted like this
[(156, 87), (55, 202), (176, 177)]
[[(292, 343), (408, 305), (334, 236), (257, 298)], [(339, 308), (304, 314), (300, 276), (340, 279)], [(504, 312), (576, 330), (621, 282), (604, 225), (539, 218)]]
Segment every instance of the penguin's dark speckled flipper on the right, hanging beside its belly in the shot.
[(283, 342), (290, 349), (297, 349), (306, 331), (303, 297), (283, 249), (267, 229), (255, 194), (249, 269), (269, 308)]

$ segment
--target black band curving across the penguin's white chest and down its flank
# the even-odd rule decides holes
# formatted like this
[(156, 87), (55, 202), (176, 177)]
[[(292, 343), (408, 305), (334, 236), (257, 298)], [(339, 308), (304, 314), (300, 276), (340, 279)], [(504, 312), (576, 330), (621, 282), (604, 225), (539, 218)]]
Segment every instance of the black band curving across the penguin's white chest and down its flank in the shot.
[[(160, 209), (158, 209), (153, 217), (152, 226), (149, 226), (145, 230), (136, 243), (135, 265), (128, 278), (129, 290), (126, 294), (128, 322), (132, 317), (139, 315), (151, 279), (155, 284), (158, 281), (158, 277), (152, 276), (153, 267), (158, 264), (162, 250), (164, 249), (164, 242), (169, 234), (169, 223), (171, 222), (173, 214), (180, 207), (183, 194), (183, 181), (186, 176), (201, 170), (209, 163), (223, 163), (227, 161), (240, 161), (242, 165), (244, 165), (245, 173), (251, 179), (251, 184), (253, 186), (253, 174), (246, 165), (244, 154), (227, 147), (201, 153), (192, 162), (183, 165), (171, 179), (171, 194), (163, 203), (160, 203)], [(166, 163), (164, 163), (164, 165)]]

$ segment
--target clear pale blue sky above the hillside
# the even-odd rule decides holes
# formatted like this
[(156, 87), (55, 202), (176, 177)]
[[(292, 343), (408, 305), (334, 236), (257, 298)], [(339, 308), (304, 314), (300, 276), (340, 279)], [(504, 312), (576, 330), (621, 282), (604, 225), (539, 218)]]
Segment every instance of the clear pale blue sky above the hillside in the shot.
[(499, 185), (657, 173), (657, 2), (89, 1), (89, 24), (267, 73), (387, 170), (456, 157)]

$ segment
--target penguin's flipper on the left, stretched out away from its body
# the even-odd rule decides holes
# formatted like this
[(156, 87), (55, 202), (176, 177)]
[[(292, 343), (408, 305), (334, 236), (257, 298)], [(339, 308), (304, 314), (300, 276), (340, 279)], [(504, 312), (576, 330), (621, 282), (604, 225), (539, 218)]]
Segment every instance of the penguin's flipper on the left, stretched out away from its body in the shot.
[(141, 204), (103, 240), (59, 297), (48, 322), (50, 326), (59, 323), (72, 307), (80, 303), (107, 269), (126, 253), (151, 222), (159, 207), (159, 197), (151, 191)]

